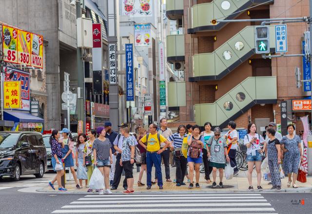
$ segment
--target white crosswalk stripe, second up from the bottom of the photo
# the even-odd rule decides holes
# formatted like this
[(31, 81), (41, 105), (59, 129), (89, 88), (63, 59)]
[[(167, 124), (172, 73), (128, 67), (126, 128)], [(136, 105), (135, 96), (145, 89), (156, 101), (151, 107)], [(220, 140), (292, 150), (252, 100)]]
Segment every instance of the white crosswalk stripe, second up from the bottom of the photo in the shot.
[[(61, 208), (116, 208), (116, 206), (118, 207), (122, 207), (122, 208), (126, 208), (126, 207), (153, 207), (153, 206), (158, 206), (156, 204), (104, 204), (104, 205), (66, 205), (63, 206)], [(215, 203), (208, 203), (208, 204), (198, 204), (198, 203), (193, 203), (193, 204), (189, 204), (189, 203), (184, 203), (184, 204), (161, 204), (161, 207), (242, 207), (242, 206), (271, 206), (270, 203), (226, 203), (226, 204), (215, 204)]]

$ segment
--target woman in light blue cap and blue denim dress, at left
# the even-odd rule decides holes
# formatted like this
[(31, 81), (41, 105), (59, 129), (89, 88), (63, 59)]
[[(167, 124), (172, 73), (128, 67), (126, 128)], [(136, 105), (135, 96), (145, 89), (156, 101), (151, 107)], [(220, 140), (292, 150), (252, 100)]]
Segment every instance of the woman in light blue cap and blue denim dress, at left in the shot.
[(62, 153), (63, 157), (62, 160), (64, 160), (65, 167), (69, 167), (70, 171), (73, 174), (74, 180), (76, 182), (76, 188), (80, 189), (80, 186), (78, 184), (77, 175), (74, 169), (74, 158), (73, 158), (73, 148), (74, 148), (74, 139), (72, 135), (70, 134), (69, 130), (67, 128), (63, 128), (62, 131), (60, 131), (62, 135), (62, 141), (63, 141), (63, 148)]

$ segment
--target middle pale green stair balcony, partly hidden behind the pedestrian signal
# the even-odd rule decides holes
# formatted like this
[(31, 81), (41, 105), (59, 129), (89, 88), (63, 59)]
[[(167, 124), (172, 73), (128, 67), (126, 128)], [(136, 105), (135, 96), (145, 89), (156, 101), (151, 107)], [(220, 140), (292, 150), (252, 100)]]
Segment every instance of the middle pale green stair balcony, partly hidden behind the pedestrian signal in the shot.
[[(254, 28), (247, 26), (212, 53), (193, 56), (189, 81), (218, 80), (255, 54)], [(270, 26), (270, 50), (275, 51), (274, 26)]]

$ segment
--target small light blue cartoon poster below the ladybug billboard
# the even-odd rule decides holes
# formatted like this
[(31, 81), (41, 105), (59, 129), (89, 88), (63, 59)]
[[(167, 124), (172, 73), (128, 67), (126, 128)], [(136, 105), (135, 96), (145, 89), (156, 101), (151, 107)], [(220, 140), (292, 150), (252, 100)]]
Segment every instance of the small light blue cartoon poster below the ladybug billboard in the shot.
[(150, 46), (151, 24), (135, 24), (135, 46)]

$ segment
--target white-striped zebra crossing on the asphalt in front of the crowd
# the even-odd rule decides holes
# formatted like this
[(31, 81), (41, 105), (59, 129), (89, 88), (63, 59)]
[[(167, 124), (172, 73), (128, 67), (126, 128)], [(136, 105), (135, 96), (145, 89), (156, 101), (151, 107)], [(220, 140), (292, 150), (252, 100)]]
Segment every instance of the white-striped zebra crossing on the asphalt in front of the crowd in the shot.
[(277, 214), (258, 193), (85, 195), (52, 213)]

